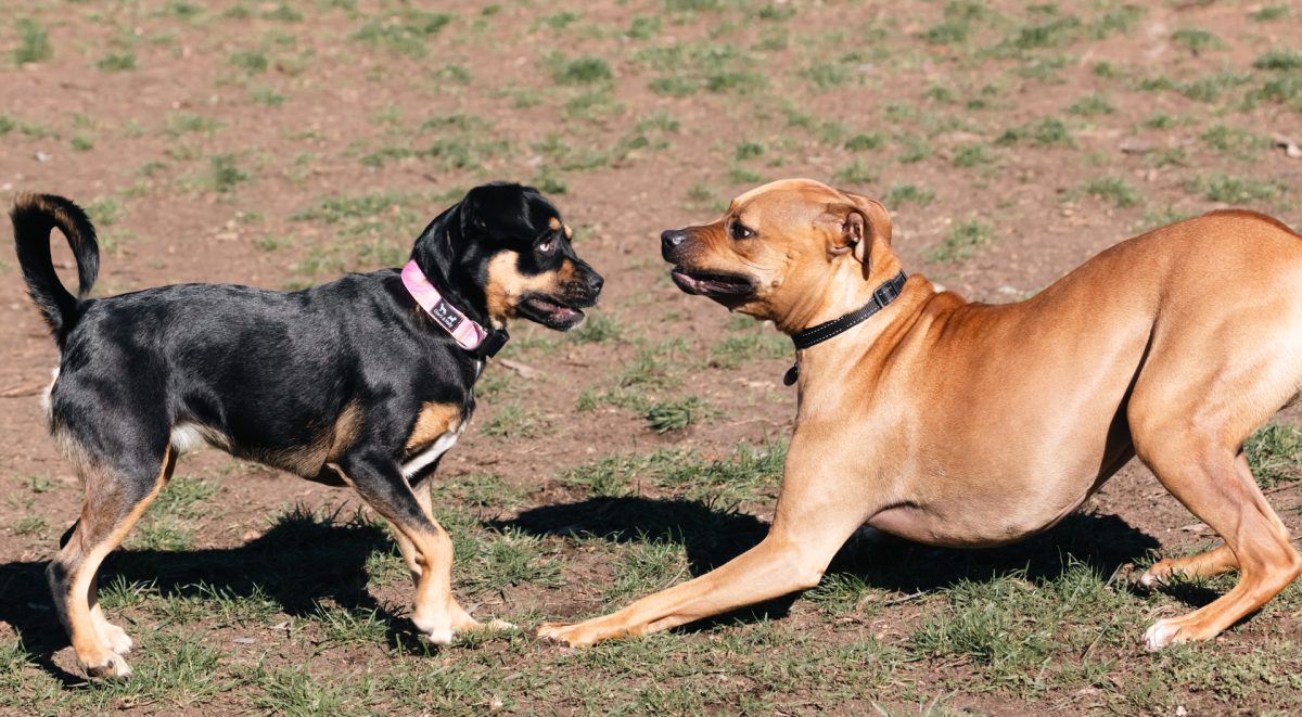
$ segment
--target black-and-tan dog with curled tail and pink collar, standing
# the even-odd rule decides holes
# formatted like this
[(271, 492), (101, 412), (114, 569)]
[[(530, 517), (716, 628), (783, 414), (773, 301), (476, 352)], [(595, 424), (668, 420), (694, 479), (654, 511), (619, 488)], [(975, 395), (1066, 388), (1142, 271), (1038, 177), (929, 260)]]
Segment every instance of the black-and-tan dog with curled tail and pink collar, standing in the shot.
[[(293, 293), (189, 284), (103, 299), (87, 298), (99, 250), (76, 204), (29, 195), (12, 219), (61, 354), (49, 428), (86, 493), (48, 576), (89, 673), (130, 674), (132, 640), (104, 618), (96, 573), (199, 441), (352, 485), (396, 528), (417, 629), (447, 643), (479, 625), (452, 595), (452, 541), (427, 479), (470, 420), (506, 320), (566, 331), (596, 302), (602, 277), (575, 256), (556, 207), (531, 187), (486, 185), (424, 229), (401, 272)], [(78, 297), (55, 275), (53, 228), (77, 258)]]

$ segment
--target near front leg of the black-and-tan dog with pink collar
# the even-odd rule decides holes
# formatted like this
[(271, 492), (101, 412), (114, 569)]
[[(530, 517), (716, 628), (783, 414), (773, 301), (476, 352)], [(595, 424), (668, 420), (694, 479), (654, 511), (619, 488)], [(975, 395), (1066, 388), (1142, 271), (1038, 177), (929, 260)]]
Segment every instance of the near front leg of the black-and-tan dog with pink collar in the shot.
[(398, 465), (388, 457), (363, 453), (332, 465), (362, 500), (398, 534), (398, 548), (415, 582), (411, 622), (435, 644), (448, 644), (457, 631), (480, 627), (452, 596), (452, 539), (430, 514), (430, 487), (417, 497)]

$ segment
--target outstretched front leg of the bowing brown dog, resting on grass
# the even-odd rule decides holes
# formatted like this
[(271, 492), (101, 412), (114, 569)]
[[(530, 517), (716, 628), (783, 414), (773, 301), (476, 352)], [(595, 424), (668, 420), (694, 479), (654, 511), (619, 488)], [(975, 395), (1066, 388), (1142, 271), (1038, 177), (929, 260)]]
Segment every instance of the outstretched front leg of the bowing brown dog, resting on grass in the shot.
[(816, 586), (836, 552), (871, 514), (835, 505), (825, 497), (807, 500), (814, 492), (796, 491), (792, 483), (784, 485), (777, 518), (759, 545), (712, 573), (643, 597), (616, 613), (578, 625), (542, 625), (538, 636), (589, 645), (668, 630)]

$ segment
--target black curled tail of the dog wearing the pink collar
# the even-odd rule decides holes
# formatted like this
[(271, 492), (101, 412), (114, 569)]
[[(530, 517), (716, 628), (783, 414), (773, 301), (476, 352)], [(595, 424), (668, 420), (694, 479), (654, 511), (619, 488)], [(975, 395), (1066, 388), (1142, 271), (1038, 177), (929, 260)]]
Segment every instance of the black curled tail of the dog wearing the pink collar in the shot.
[[(40, 310), (60, 347), (68, 332), (77, 324), (81, 302), (90, 294), (99, 275), (99, 245), (95, 228), (86, 212), (62, 196), (53, 194), (23, 194), (9, 211), (13, 220), (13, 242), (18, 250), (18, 265), (27, 282), (27, 294)], [(68, 246), (77, 258), (77, 297), (68, 293), (49, 255), (49, 230), (59, 228), (68, 238)]]

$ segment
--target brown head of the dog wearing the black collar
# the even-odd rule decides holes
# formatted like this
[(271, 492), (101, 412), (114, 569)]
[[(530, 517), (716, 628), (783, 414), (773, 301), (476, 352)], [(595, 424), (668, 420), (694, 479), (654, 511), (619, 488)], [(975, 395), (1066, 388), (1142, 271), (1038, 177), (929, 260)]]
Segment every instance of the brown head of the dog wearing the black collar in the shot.
[(875, 199), (814, 180), (781, 180), (732, 200), (712, 224), (660, 234), (671, 276), (689, 294), (799, 331), (816, 316), (833, 275), (871, 281), (898, 271), (891, 216)]

